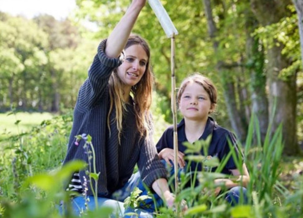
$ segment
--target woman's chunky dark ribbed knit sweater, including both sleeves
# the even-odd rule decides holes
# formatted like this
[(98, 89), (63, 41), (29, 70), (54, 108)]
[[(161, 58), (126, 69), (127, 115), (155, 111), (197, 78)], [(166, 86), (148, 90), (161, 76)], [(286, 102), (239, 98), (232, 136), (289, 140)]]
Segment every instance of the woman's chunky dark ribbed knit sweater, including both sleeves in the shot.
[[(137, 163), (141, 178), (149, 187), (158, 178), (167, 175), (166, 169), (159, 161), (151, 133), (148, 137), (140, 137), (136, 128), (133, 104), (126, 104), (122, 121), (121, 144), (118, 142), (118, 130), (115, 110), (110, 114), (110, 132), (107, 127), (109, 111), (108, 80), (113, 71), (122, 63), (122, 58), (108, 58), (105, 53), (106, 39), (98, 46), (98, 53), (88, 72), (88, 78), (80, 87), (74, 109), (74, 122), (71, 130), (67, 155), (63, 164), (80, 159), (88, 162), (83, 148), (84, 141), (75, 145), (75, 136), (86, 133), (92, 136), (96, 153), (98, 180), (98, 196), (108, 196), (121, 188), (131, 177)], [(123, 56), (123, 55), (121, 55)], [(152, 129), (150, 127), (150, 129)], [(92, 160), (90, 160), (92, 161)], [(93, 165), (92, 165), (93, 166)], [(83, 186), (85, 171), (80, 171)], [(88, 185), (88, 194), (92, 194)]]

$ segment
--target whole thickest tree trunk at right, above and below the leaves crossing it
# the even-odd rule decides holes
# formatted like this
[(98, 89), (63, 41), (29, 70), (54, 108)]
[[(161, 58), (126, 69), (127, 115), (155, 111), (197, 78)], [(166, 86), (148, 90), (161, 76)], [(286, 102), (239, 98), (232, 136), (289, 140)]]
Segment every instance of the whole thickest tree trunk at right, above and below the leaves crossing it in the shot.
[[(289, 0), (250, 0), (252, 11), (263, 26), (277, 23), (287, 16)], [(279, 78), (279, 72), (288, 66), (288, 61), (282, 52), (283, 47), (276, 44), (267, 48), (267, 85), (269, 87), (269, 113), (273, 117), (272, 130), (283, 125), (284, 152), (287, 155), (297, 155), (299, 146), (296, 137), (296, 73), (287, 78)], [(276, 105), (274, 102), (276, 100)], [(273, 107), (276, 108), (275, 113)]]

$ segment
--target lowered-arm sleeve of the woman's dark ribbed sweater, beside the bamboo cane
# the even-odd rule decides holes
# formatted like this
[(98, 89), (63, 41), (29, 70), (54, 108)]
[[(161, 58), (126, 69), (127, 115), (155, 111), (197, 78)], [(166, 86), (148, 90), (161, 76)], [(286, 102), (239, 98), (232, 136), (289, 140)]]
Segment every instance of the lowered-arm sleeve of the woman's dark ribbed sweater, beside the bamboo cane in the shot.
[(153, 129), (149, 130), (149, 136), (143, 140), (140, 148), (140, 157), (137, 162), (142, 181), (151, 187), (159, 178), (167, 178), (168, 172), (159, 156), (153, 141)]

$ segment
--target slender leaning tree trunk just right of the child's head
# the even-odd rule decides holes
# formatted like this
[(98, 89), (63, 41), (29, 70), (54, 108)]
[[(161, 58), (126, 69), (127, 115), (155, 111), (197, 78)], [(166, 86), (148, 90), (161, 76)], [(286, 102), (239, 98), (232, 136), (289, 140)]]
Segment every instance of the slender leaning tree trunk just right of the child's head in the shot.
[[(218, 41), (215, 39), (215, 36), (218, 32), (215, 22), (213, 20), (213, 14), (212, 14), (212, 8), (210, 0), (203, 0), (204, 8), (205, 8), (205, 14), (207, 18), (207, 25), (208, 25), (208, 32), (209, 37), (213, 41), (213, 48), (215, 53), (218, 53)], [(219, 56), (219, 55), (218, 55)], [(244, 142), (246, 138), (246, 127), (245, 124), (243, 124), (241, 117), (245, 117), (245, 114), (242, 115), (240, 111), (236, 107), (236, 97), (235, 97), (235, 89), (234, 89), (234, 81), (232, 78), (229, 78), (228, 74), (226, 75), (224, 73), (224, 70), (222, 69), (222, 66), (224, 64), (222, 61), (218, 61), (217, 68), (218, 72), (222, 78), (222, 85), (224, 89), (224, 98), (228, 110), (229, 120), (232, 125), (232, 129), (236, 132), (237, 136), (241, 140), (241, 142)]]

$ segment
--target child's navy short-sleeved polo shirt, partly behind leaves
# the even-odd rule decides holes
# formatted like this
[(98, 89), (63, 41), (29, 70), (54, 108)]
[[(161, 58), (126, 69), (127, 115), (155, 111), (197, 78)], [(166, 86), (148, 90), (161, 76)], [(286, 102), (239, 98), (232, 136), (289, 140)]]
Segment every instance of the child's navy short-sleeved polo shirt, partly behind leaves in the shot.
[[(184, 119), (181, 120), (181, 122), (177, 125), (177, 134), (178, 134), (178, 150), (184, 153), (186, 150), (186, 146), (183, 145), (183, 142), (187, 142), (186, 135), (185, 135), (185, 121)], [(236, 154), (239, 154), (239, 151), (236, 146), (236, 137), (235, 135), (230, 132), (227, 129), (224, 129), (223, 127), (217, 125), (213, 118), (208, 117), (208, 120), (206, 122), (206, 126), (204, 129), (203, 134), (199, 138), (199, 140), (203, 139), (205, 140), (209, 135), (212, 135), (211, 142), (208, 149), (208, 154), (212, 157), (217, 156), (218, 159), (221, 161), (224, 156), (226, 156), (229, 151), (229, 145), (227, 138), (229, 141), (235, 146)], [(168, 127), (168, 129), (165, 130), (162, 137), (159, 139), (157, 145), (157, 151), (158, 153), (164, 149), (164, 148), (171, 148), (173, 149), (173, 126)], [(203, 149), (200, 151), (201, 155), (204, 155)], [(196, 162), (191, 163), (191, 171), (194, 172), (195, 168), (197, 166)], [(202, 166), (199, 163), (197, 166), (198, 171), (202, 170)], [(225, 167), (221, 171), (221, 173), (224, 174), (231, 174), (232, 169), (236, 169), (236, 164), (232, 158), (232, 156), (227, 161)], [(212, 172), (214, 172), (216, 168), (212, 168)]]

